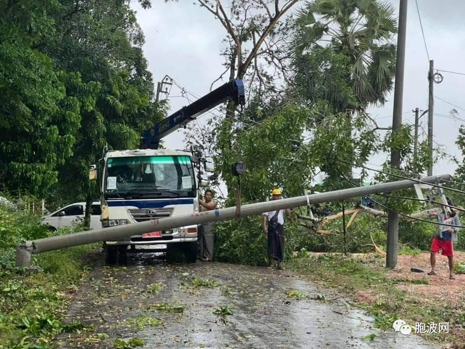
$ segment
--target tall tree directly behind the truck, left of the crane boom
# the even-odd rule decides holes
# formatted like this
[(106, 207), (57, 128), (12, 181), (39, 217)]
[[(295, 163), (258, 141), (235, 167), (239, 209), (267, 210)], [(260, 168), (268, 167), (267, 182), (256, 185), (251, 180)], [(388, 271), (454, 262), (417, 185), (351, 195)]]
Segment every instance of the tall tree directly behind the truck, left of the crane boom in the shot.
[(96, 190), (88, 169), (103, 147), (138, 147), (141, 133), (163, 117), (164, 109), (154, 101), (141, 49), (144, 35), (128, 0), (62, 1), (55, 21), (57, 35), (44, 43), (44, 50), (60, 68), (78, 71), (83, 81), (96, 81), (100, 87), (94, 108), (82, 110), (74, 156), (60, 168), (61, 185), (56, 188), (90, 207)]

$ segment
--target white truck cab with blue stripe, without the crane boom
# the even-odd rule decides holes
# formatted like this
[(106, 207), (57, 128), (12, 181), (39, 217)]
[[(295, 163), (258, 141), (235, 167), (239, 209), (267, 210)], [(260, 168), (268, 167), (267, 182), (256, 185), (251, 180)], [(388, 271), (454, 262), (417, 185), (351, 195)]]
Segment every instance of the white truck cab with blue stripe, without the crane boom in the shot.
[[(137, 224), (199, 211), (192, 158), (181, 151), (135, 149), (110, 151), (101, 172), (102, 227)], [(107, 262), (127, 252), (182, 250), (197, 257), (197, 226), (186, 226), (104, 242)]]

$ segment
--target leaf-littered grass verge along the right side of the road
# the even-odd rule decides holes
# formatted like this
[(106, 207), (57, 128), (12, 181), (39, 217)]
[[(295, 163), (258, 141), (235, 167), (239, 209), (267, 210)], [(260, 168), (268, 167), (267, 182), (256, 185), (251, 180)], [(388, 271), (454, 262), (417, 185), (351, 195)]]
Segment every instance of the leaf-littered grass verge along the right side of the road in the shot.
[[(456, 325), (452, 332), (464, 332), (460, 316), (465, 313), (465, 304), (453, 308), (441, 301), (440, 295), (436, 300), (431, 300), (431, 297), (407, 293), (396, 287), (400, 283), (428, 285), (427, 278), (389, 278), (387, 270), (382, 267), (374, 264), (368, 267), (366, 262), (342, 255), (303, 256), (292, 259), (288, 266), (323, 286), (336, 287), (351, 296), (359, 307), (374, 317), (376, 328), (390, 330), (392, 323), (401, 318), (410, 325), (416, 322), (449, 322), (451, 327)], [(357, 296), (360, 292), (371, 295), (371, 301), (361, 302)], [(455, 335), (447, 333), (424, 336), (442, 342), (450, 342), (455, 338)]]

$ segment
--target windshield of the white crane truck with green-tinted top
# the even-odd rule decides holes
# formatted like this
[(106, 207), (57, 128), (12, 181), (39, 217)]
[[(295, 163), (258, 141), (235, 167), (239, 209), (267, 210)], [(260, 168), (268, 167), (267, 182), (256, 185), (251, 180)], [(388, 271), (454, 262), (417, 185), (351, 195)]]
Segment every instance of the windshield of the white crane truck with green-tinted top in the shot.
[(105, 193), (115, 197), (193, 197), (194, 170), (187, 156), (109, 158)]

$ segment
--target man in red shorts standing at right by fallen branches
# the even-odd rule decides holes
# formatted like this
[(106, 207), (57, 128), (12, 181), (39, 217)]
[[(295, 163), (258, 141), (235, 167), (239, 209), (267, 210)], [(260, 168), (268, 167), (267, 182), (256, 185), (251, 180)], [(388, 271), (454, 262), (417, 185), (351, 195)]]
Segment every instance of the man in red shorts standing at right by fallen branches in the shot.
[[(447, 204), (454, 206), (453, 202), (447, 198)], [(436, 275), (434, 268), (436, 267), (436, 254), (439, 250), (442, 250), (442, 255), (447, 256), (449, 259), (449, 279), (455, 279), (454, 276), (454, 247), (452, 240), (457, 241), (457, 231), (459, 227), (453, 227), (450, 225), (461, 225), (459, 216), (453, 209), (450, 209), (450, 213), (446, 213), (444, 206), (442, 206), (442, 212), (439, 214), (433, 213), (430, 217), (437, 217), (440, 223), (437, 226), (437, 230), (434, 233), (433, 242), (431, 243), (431, 271), (428, 275)]]

